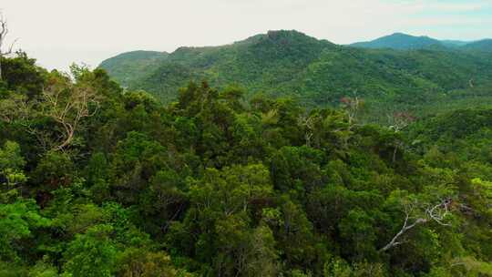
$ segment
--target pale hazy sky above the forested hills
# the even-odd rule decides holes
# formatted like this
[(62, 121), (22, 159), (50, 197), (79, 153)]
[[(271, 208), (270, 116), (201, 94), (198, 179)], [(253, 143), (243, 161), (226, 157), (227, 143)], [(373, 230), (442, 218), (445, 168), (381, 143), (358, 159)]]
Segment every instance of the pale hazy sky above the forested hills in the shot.
[(492, 37), (492, 0), (2, 0), (11, 38), (48, 68), (131, 50), (228, 44), (296, 29), (338, 44), (395, 32)]

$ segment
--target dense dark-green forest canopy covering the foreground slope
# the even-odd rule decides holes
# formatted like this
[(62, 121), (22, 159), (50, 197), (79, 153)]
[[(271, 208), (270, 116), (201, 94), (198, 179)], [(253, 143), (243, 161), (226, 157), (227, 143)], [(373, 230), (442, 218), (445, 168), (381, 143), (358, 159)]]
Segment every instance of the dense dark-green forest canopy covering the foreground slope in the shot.
[[(312, 40), (302, 61), (325, 45), (339, 51)], [(1, 276), (492, 274), (490, 108), (388, 128), (350, 98), (306, 110), (191, 83), (163, 106), (102, 69), (2, 66)]]

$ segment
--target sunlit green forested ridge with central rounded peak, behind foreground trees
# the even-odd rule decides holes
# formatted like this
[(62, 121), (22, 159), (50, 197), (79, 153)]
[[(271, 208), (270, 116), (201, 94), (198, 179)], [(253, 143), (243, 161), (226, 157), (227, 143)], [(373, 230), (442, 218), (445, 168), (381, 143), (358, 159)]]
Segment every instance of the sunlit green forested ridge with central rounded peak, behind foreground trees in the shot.
[(490, 103), (491, 53), (445, 46), (362, 49), (296, 31), (271, 31), (228, 46), (181, 47), (159, 60), (135, 59), (147, 65), (145, 70), (113, 59), (101, 67), (123, 86), (147, 90), (165, 103), (190, 80), (207, 79), (214, 87), (235, 84), (249, 96), (289, 96), (310, 107), (336, 106), (340, 98), (356, 95), (373, 113), (381, 108), (418, 111), (436, 101), (454, 107), (456, 95)]

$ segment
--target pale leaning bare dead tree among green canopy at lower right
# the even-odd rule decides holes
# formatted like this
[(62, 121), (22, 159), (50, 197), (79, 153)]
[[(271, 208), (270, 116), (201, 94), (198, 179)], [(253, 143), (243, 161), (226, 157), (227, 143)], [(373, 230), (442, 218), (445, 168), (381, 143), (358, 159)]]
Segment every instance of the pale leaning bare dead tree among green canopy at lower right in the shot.
[(419, 209), (418, 203), (413, 202), (405, 205), (405, 221), (402, 229), (400, 229), (400, 231), (395, 234), (393, 239), (384, 245), (384, 247), (379, 251), (388, 251), (395, 246), (405, 243), (405, 241), (402, 240), (402, 237), (407, 231), (414, 229), (418, 225), (434, 221), (442, 226), (451, 226), (449, 223), (445, 222), (446, 216), (449, 214), (451, 202), (451, 199), (446, 199), (441, 200), (434, 206), (426, 205), (427, 207), (425, 207), (423, 214), (416, 217), (412, 216), (412, 213), (415, 209)]

